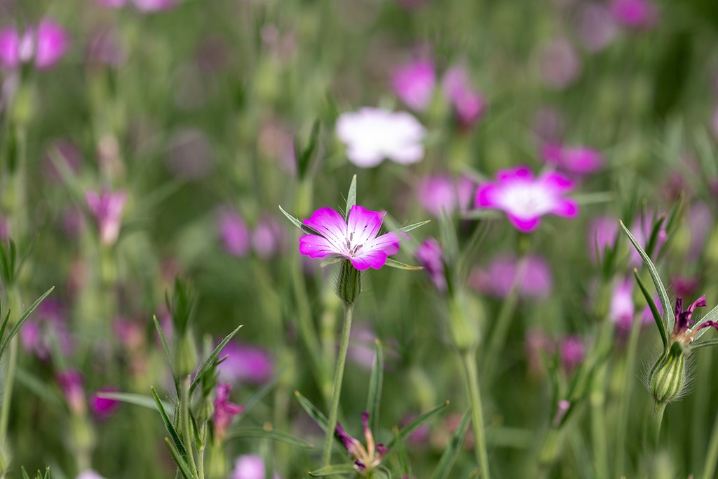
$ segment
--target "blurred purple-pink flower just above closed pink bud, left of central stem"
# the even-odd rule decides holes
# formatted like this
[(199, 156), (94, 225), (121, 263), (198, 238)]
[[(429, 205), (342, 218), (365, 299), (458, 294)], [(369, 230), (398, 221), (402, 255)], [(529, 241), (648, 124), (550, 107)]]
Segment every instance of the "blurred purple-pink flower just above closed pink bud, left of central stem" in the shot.
[(261, 384), (274, 374), (271, 355), (258, 346), (230, 341), (220, 353), (220, 358), (225, 356), (226, 359), (217, 366), (223, 383)]

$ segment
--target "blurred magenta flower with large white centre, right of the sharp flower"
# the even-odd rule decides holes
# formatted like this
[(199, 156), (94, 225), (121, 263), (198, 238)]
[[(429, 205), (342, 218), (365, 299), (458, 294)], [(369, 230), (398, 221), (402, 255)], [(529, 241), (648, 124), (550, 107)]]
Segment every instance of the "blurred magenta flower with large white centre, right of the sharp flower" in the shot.
[(476, 192), (478, 208), (505, 211), (518, 231), (528, 233), (538, 228), (541, 216), (548, 213), (564, 218), (575, 218), (579, 205), (564, 197), (574, 187), (574, 182), (557, 172), (544, 172), (534, 179), (527, 167), (501, 169), (497, 182), (479, 185)]

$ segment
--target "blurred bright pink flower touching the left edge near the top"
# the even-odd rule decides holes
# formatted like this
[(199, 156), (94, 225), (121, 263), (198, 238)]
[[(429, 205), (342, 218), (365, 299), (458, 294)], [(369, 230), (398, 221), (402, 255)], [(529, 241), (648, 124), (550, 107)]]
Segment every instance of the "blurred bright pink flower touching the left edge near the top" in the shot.
[(0, 64), (14, 69), (34, 62), (38, 70), (55, 66), (70, 48), (70, 35), (60, 24), (43, 19), (22, 34), (14, 28), (0, 30)]

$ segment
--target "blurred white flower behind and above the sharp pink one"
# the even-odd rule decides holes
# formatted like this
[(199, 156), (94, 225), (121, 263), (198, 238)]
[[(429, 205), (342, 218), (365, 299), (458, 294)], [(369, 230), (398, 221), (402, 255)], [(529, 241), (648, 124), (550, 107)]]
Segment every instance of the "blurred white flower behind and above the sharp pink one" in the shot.
[(412, 164), (424, 157), (426, 130), (405, 111), (360, 108), (337, 119), (337, 136), (347, 145), (347, 157), (358, 167), (376, 167), (385, 158)]

